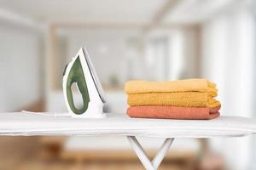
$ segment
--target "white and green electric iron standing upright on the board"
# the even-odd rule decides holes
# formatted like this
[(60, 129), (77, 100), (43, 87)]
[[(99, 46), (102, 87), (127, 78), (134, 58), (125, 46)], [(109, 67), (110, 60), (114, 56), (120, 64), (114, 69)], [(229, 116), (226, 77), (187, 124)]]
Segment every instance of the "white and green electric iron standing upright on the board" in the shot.
[[(73, 102), (72, 85), (75, 83), (82, 95), (83, 106), (77, 108)], [(67, 109), (73, 117), (102, 118), (103, 106), (106, 103), (102, 85), (98, 80), (94, 66), (86, 49), (80, 48), (79, 53), (68, 63), (63, 73), (63, 93)]]

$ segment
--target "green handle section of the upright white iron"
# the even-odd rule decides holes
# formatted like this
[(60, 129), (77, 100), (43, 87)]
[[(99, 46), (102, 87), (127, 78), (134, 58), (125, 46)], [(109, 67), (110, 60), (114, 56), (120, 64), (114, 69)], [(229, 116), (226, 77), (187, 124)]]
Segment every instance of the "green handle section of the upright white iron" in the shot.
[[(73, 65), (73, 71), (69, 72), (68, 78), (67, 78), (67, 102), (70, 106), (70, 109), (73, 111), (73, 113), (77, 115), (82, 115), (85, 111), (88, 109), (88, 105), (90, 102), (90, 97), (87, 89), (87, 85), (84, 79), (84, 73), (81, 68), (80, 62), (76, 62)], [(73, 102), (73, 92), (72, 92), (72, 85), (73, 83), (76, 83), (79, 88), (79, 93), (82, 95), (83, 99), (83, 107), (82, 108), (76, 108)]]

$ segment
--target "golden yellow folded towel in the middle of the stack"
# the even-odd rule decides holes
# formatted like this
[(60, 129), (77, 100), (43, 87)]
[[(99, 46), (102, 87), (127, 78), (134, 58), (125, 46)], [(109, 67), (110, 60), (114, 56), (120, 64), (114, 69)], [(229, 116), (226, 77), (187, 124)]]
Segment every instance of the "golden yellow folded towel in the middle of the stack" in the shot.
[(172, 105), (184, 107), (216, 107), (219, 101), (212, 99), (208, 93), (183, 92), (183, 93), (154, 93), (154, 94), (129, 94), (128, 105)]

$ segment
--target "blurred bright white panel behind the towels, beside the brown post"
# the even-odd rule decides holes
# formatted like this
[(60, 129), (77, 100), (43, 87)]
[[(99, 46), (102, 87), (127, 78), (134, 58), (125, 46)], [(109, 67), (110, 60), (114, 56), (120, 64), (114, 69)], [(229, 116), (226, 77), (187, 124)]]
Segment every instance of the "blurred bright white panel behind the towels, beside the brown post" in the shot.
[(170, 35), (170, 79), (198, 77), (199, 43), (195, 27), (179, 28)]

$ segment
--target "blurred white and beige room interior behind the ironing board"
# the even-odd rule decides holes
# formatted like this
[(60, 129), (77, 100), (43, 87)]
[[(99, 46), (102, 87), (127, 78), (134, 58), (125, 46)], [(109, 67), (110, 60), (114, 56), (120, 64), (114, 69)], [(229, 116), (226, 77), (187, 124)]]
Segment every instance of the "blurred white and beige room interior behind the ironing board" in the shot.
[[(0, 0), (0, 112), (67, 111), (64, 66), (86, 47), (108, 99), (124, 82), (205, 77), (221, 115), (256, 117), (253, 0)], [(162, 139), (139, 139), (154, 156)], [(125, 138), (0, 137), (0, 169), (143, 169)], [(256, 169), (256, 137), (176, 139), (160, 169)]]

